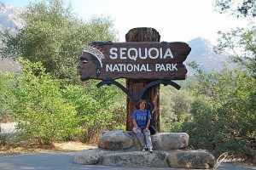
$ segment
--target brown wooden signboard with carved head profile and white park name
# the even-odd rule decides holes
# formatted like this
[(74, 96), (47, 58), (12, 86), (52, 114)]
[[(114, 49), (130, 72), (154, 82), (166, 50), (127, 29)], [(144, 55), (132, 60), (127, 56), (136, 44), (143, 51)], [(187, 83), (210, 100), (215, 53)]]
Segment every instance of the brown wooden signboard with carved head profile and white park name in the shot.
[(79, 75), (88, 79), (183, 80), (183, 61), (191, 48), (185, 42), (93, 42), (79, 59)]

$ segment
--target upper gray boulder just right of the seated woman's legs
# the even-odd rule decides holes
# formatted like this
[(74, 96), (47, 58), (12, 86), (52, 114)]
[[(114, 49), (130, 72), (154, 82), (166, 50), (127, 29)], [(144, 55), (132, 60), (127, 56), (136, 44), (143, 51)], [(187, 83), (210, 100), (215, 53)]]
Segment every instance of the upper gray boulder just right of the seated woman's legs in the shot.
[(156, 133), (152, 136), (154, 150), (180, 150), (189, 145), (188, 133)]

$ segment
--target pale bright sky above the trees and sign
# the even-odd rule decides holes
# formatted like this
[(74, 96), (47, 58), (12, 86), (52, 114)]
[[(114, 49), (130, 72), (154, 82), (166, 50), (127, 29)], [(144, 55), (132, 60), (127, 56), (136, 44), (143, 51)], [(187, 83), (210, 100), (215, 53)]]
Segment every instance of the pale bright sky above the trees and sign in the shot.
[[(0, 0), (25, 8), (38, 0)], [(64, 0), (84, 21), (93, 16), (109, 16), (113, 20), (119, 42), (135, 27), (152, 27), (160, 33), (160, 41), (189, 42), (203, 37), (217, 44), (218, 31), (247, 26), (247, 20), (214, 11), (216, 0)]]

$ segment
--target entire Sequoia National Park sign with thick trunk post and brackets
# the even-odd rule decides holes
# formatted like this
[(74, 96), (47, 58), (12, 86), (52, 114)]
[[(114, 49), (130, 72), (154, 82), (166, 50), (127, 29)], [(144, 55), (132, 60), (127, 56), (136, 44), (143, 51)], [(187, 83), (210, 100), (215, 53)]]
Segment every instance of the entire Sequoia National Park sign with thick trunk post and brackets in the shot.
[[(91, 42), (85, 45), (79, 59), (80, 79), (102, 80), (96, 86), (113, 84), (126, 95), (126, 130), (131, 130), (137, 102), (145, 99), (150, 105), (153, 124), (160, 132), (160, 84), (179, 85), (187, 75), (183, 61), (191, 48), (185, 42), (160, 42), (153, 28), (134, 28), (125, 36), (126, 42)], [(116, 79), (126, 78), (126, 88)]]

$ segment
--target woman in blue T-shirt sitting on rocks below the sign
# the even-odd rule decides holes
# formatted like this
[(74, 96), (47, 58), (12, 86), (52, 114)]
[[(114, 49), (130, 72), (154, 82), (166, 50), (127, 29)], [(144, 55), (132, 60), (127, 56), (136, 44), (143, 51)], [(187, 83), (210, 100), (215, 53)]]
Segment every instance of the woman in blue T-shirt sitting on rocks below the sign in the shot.
[[(148, 130), (152, 117), (150, 111), (145, 109), (146, 104), (144, 99), (139, 100), (139, 109), (132, 114), (132, 123), (134, 125), (132, 131), (136, 134), (140, 144), (142, 144), (143, 151), (148, 149), (153, 152), (150, 131)], [(145, 144), (145, 139), (147, 144)]]

